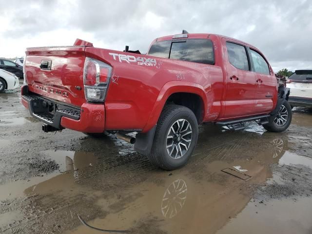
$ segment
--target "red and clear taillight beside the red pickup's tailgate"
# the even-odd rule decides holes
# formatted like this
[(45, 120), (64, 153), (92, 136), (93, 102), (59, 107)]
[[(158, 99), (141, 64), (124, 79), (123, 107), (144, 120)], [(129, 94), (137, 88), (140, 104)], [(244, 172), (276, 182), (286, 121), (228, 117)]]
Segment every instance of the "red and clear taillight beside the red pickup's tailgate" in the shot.
[(97, 59), (86, 58), (83, 69), (84, 95), (87, 101), (104, 101), (112, 67)]

